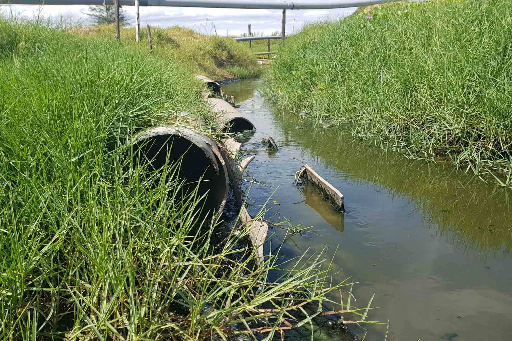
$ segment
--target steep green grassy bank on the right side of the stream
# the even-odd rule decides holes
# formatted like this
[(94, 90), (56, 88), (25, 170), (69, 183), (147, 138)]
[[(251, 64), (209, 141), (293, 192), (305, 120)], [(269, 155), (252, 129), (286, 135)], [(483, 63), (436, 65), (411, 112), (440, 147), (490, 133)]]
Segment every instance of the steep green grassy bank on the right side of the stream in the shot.
[(267, 96), (510, 187), (511, 9), (510, 0), (399, 2), (311, 25), (271, 65)]

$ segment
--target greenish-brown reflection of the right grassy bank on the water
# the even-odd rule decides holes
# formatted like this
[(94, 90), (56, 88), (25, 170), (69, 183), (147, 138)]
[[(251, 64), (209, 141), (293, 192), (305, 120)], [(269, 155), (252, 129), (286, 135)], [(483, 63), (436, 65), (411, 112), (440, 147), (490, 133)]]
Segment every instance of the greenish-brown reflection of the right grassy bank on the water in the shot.
[[(295, 141), (310, 157), (343, 171), (361, 186), (386, 188), (390, 198), (410, 198), (437, 233), (453, 238), (457, 247), (510, 257), (512, 249), (512, 193), (461, 174), (450, 165), (410, 162), (395, 153), (353, 141), (334, 129), (295, 129), (294, 117), (275, 115), (285, 139)], [(325, 143), (336, 141), (336, 143)], [(342, 190), (343, 192), (343, 190)]]

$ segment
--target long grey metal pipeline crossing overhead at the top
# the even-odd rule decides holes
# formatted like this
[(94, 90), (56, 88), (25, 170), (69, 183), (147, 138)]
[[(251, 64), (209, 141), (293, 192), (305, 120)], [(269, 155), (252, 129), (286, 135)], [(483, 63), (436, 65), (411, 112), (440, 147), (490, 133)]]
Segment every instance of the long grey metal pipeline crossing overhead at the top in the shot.
[[(272, 1), (272, 0), (140, 0), (140, 6), (241, 8), (266, 10), (313, 10), (359, 7), (397, 0)], [(113, 5), (113, 0), (0, 0), (12, 5)], [(135, 6), (134, 0), (119, 0), (121, 6)]]

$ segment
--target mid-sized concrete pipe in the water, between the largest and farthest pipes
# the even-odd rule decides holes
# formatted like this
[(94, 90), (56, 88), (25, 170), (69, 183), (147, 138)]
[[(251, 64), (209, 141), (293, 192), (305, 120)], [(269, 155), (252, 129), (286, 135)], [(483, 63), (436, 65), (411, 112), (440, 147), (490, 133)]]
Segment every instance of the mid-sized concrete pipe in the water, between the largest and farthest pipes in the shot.
[(244, 130), (256, 130), (249, 118), (228, 102), (220, 98), (208, 98), (206, 101), (212, 106), (212, 111), (217, 114), (217, 126), (223, 132), (237, 133)]

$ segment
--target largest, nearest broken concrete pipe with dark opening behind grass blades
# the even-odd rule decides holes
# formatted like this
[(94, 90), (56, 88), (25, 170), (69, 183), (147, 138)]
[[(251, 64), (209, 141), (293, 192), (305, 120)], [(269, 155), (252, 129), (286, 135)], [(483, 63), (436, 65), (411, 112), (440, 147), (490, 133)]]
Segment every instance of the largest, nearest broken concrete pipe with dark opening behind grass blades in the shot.
[(191, 193), (199, 183), (198, 195), (207, 193), (203, 216), (215, 212), (215, 218), (220, 217), (229, 179), (222, 154), (209, 137), (193, 127), (159, 126), (137, 134), (130, 152), (134, 162), (143, 164), (148, 172), (158, 172), (166, 163), (182, 158), (178, 178), (184, 185), (176, 199)]

